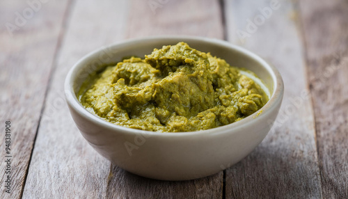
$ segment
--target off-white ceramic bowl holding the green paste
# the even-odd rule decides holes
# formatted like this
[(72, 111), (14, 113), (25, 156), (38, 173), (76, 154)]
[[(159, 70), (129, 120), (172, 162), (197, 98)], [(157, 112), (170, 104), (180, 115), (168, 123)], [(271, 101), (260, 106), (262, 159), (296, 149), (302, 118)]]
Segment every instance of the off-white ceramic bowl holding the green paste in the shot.
[[(262, 113), (259, 110), (239, 122), (200, 132), (160, 133), (113, 125), (89, 113), (77, 100), (81, 83), (101, 65), (117, 63), (125, 56), (143, 57), (154, 48), (180, 41), (255, 72), (271, 95), (260, 109)], [(251, 51), (222, 40), (186, 36), (141, 38), (103, 47), (81, 58), (65, 80), (70, 113), (88, 143), (120, 168), (158, 180), (205, 177), (246, 157), (269, 132), (278, 114), (283, 90), (278, 70)]]

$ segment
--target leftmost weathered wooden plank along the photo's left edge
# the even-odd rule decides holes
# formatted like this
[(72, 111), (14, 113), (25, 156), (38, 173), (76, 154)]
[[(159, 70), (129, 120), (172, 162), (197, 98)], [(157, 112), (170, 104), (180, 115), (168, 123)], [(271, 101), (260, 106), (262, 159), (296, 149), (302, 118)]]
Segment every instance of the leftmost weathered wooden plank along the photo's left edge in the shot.
[[(68, 1), (0, 1), (0, 198), (20, 198)], [(10, 121), (10, 193), (5, 121)]]

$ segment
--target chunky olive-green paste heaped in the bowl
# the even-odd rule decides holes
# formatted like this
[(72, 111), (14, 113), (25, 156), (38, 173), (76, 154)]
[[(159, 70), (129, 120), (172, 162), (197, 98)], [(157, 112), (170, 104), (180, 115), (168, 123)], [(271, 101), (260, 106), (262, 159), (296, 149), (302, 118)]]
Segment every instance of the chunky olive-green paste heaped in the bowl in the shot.
[(245, 72), (179, 42), (106, 67), (81, 86), (78, 97), (88, 111), (116, 125), (193, 132), (242, 120), (264, 106), (266, 93)]

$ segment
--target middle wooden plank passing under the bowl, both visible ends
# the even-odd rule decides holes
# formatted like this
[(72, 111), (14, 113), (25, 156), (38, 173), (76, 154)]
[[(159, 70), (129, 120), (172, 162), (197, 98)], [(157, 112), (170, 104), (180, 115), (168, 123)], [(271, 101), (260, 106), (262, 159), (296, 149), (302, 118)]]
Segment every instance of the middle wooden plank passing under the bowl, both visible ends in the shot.
[[(134, 0), (127, 38), (142, 35), (184, 34), (223, 38), (219, 1), (168, 1), (155, 13), (149, 1)], [(159, 2), (159, 1), (158, 1)], [(107, 198), (221, 198), (223, 172), (186, 182), (150, 180), (112, 166)]]

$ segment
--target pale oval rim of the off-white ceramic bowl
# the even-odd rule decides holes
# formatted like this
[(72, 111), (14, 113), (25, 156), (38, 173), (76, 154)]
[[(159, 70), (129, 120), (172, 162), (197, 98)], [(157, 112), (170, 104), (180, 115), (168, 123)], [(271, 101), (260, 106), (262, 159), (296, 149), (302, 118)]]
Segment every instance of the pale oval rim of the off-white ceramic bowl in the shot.
[[(243, 120), (239, 120), (237, 122), (232, 122), (229, 125), (223, 125), (221, 127), (215, 127), (212, 129), (206, 129), (206, 130), (199, 130), (196, 132), (151, 132), (141, 129), (132, 129), (129, 127), (123, 127), (120, 125), (113, 124), (111, 122), (107, 122), (106, 120), (103, 120), (102, 118), (95, 116), (93, 113), (90, 113), (87, 111), (87, 109), (82, 106), (82, 104), (77, 99), (77, 96), (74, 92), (74, 73), (77, 73), (81, 68), (84, 67), (84, 65), (81, 65), (86, 59), (90, 58), (90, 56), (95, 56), (97, 54), (100, 54), (100, 52), (104, 51), (106, 47), (112, 48), (116, 46), (122, 46), (122, 45), (130, 45), (134, 42), (143, 42), (143, 41), (150, 41), (150, 40), (192, 40), (196, 42), (206, 42), (210, 43), (212, 45), (220, 45), (223, 47), (228, 47), (231, 49), (234, 49), (236, 51), (239, 51), (242, 54), (245, 54), (246, 56), (249, 56), (253, 58), (255, 61), (258, 61), (262, 67), (264, 67), (269, 74), (271, 74), (271, 78), (274, 81), (273, 85), (273, 93), (270, 93), (271, 97), (269, 97), (269, 101), (262, 106), (261, 109), (256, 111), (255, 113), (251, 114), (250, 116), (244, 118)], [(165, 45), (165, 44), (164, 44)], [(218, 56), (218, 55), (215, 55)], [(249, 51), (247, 49), (244, 49), (243, 47), (239, 47), (237, 45), (233, 45), (232, 43), (226, 41), (226, 40), (219, 40), (217, 38), (204, 38), (199, 36), (191, 36), (191, 35), (157, 35), (157, 36), (148, 36), (143, 38), (134, 38), (134, 39), (127, 39), (122, 40), (119, 42), (114, 42), (111, 45), (104, 45), (98, 49), (95, 49), (94, 51), (91, 51), (90, 53), (86, 54), (82, 58), (75, 63), (72, 68), (70, 68), (64, 83), (64, 91), (65, 91), (65, 99), (67, 103), (70, 105), (74, 111), (77, 111), (80, 116), (83, 116), (85, 119), (89, 120), (90, 122), (94, 122), (97, 125), (102, 125), (106, 127), (107, 129), (114, 130), (114, 131), (122, 131), (127, 132), (129, 134), (148, 134), (151, 136), (192, 136), (199, 134), (201, 136), (203, 135), (209, 135), (209, 134), (223, 134), (225, 132), (237, 132), (239, 129), (243, 129), (248, 125), (252, 125), (253, 122), (256, 122), (257, 120), (260, 120), (262, 118), (265, 118), (271, 114), (274, 109), (276, 108), (277, 104), (281, 104), (283, 100), (283, 93), (284, 93), (284, 84), (283, 79), (273, 65), (270, 65), (266, 61), (264, 61), (263, 58), (258, 56), (257, 54), (253, 53), (252, 51)]]

